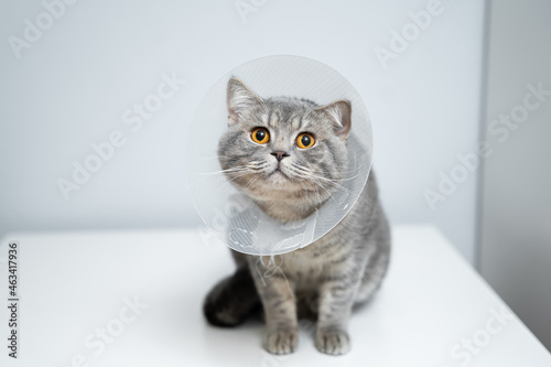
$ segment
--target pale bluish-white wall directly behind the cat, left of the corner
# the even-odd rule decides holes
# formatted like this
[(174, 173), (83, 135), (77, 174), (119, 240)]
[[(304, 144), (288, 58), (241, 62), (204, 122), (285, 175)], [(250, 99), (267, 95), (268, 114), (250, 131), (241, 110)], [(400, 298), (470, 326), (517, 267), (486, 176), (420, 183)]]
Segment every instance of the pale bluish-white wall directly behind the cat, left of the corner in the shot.
[[(198, 224), (182, 165), (195, 107), (236, 65), (294, 54), (337, 69), (364, 97), (392, 223), (432, 222), (473, 260), (476, 172), (435, 211), (423, 191), (437, 191), (440, 172), (478, 141), (483, 1), (440, 1), (442, 12), (386, 68), (376, 47), (390, 48), (409, 12), (434, 1), (237, 3), (259, 6), (245, 22), (234, 1), (78, 1), (17, 58), (9, 37), (22, 39), (25, 19), (36, 23), (45, 9), (2, 1), (0, 235)], [(172, 72), (185, 86), (131, 131), (123, 112)], [(115, 130), (126, 144), (65, 201), (56, 181)]]

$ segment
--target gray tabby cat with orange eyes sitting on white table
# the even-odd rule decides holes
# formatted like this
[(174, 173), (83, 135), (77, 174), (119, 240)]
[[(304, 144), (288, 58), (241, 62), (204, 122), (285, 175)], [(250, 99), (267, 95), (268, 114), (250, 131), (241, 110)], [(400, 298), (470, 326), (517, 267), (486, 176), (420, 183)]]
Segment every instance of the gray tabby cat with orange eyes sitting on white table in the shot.
[[(231, 78), (227, 107), (219, 163), (262, 211), (281, 222), (298, 220), (332, 197), (348, 165), (347, 100), (317, 106), (299, 98), (262, 99)], [(352, 309), (379, 288), (389, 263), (389, 226), (372, 172), (347, 216), (312, 245), (276, 257), (233, 255), (236, 272), (205, 300), (212, 324), (235, 326), (261, 306), (264, 348), (287, 354), (296, 348), (299, 316), (314, 316), (316, 348), (346, 353)]]

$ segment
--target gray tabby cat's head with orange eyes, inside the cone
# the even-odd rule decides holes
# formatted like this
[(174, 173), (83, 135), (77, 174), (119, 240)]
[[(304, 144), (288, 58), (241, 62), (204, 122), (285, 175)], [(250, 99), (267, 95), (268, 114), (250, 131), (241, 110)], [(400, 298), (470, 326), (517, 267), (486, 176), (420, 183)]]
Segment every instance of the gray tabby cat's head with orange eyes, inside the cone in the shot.
[(228, 129), (218, 143), (227, 179), (269, 215), (296, 220), (342, 185), (348, 166), (347, 100), (262, 99), (242, 82), (227, 86)]

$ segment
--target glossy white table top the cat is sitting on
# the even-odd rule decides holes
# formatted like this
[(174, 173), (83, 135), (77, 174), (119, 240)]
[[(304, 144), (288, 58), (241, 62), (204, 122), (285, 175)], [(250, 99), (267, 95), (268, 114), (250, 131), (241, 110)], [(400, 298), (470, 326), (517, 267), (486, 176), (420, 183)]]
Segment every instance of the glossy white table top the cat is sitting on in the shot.
[[(550, 354), (515, 315), (496, 319), (495, 312), (510, 310), (437, 230), (423, 226), (395, 228), (388, 278), (376, 299), (350, 320), (350, 353), (339, 357), (318, 353), (312, 328), (303, 325), (298, 350), (272, 356), (261, 348), (261, 323), (220, 330), (205, 322), (205, 293), (234, 267), (227, 248), (199, 233), (4, 237), (0, 242), (4, 300), (8, 241), (20, 246), (21, 328), (20, 357), (7, 356), (2, 337), (0, 365), (551, 366)], [(132, 313), (125, 298), (138, 298), (147, 307)], [(4, 336), (8, 312), (1, 310)], [(115, 336), (107, 335), (110, 343), (99, 342), (97, 330), (107, 326)], [(467, 352), (462, 343), (473, 338)], [(86, 341), (93, 344), (86, 346)]]

